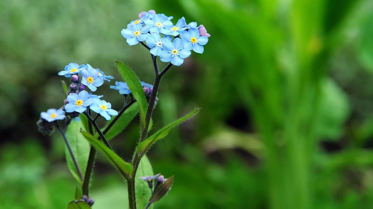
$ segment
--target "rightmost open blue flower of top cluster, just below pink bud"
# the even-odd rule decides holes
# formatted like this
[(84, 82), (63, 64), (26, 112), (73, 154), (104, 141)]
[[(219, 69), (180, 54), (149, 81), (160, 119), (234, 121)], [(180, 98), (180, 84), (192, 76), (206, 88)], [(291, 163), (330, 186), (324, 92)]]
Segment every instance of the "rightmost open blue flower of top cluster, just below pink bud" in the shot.
[(180, 37), (184, 41), (184, 48), (202, 54), (203, 45), (207, 44), (209, 38), (207, 36), (200, 36), (200, 32), (196, 28), (191, 28), (188, 31), (184, 30), (180, 33)]

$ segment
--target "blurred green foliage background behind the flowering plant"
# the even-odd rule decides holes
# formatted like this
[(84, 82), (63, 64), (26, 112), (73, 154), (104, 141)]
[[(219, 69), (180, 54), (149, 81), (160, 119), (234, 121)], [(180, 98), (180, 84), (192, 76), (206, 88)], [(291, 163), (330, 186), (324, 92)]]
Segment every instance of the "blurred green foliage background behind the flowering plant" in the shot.
[[(75, 180), (41, 111), (62, 106), (57, 72), (114, 60), (152, 83), (149, 52), (120, 35), (155, 9), (211, 34), (162, 80), (154, 130), (202, 107), (148, 154), (174, 175), (154, 208), (373, 208), (373, 1), (0, 1), (0, 208), (61, 209)], [(165, 63), (160, 62), (163, 66)], [(112, 81), (113, 84), (114, 81)], [(108, 83), (97, 94), (122, 107)], [(103, 121), (100, 121), (101, 125)], [(138, 119), (111, 143), (129, 160)], [(99, 153), (93, 209), (123, 208), (126, 187)]]

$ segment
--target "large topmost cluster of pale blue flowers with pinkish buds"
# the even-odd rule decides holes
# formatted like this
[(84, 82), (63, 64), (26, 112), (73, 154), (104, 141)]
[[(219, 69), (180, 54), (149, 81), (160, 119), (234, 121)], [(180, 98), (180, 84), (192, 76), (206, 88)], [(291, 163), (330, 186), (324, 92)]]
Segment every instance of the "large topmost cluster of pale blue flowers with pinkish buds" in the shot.
[(139, 19), (131, 21), (121, 33), (130, 46), (145, 41), (151, 54), (179, 66), (191, 55), (191, 50), (203, 53), (210, 34), (203, 25), (197, 27), (197, 22), (186, 24), (182, 17), (173, 25), (172, 19), (154, 10), (141, 12)]

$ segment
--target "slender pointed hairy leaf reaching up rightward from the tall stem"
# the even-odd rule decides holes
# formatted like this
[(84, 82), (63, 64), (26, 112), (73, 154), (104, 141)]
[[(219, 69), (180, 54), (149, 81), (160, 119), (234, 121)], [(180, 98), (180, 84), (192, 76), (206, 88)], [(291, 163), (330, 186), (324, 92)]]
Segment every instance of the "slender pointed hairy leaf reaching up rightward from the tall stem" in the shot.
[(180, 125), (185, 120), (188, 120), (189, 118), (193, 117), (194, 115), (196, 115), (198, 113), (199, 110), (200, 110), (200, 108), (195, 108), (188, 115), (185, 115), (184, 117), (175, 120), (175, 122), (172, 122), (172, 123), (170, 123), (167, 126), (164, 126), (162, 129), (160, 129), (159, 131), (157, 131), (155, 134), (151, 135), (145, 141), (141, 142), (137, 146), (137, 154), (139, 156), (144, 155), (146, 153), (146, 151), (154, 144), (154, 142), (156, 142), (158, 139), (162, 139), (165, 136), (167, 136), (168, 132), (173, 127), (175, 127), (177, 125)]

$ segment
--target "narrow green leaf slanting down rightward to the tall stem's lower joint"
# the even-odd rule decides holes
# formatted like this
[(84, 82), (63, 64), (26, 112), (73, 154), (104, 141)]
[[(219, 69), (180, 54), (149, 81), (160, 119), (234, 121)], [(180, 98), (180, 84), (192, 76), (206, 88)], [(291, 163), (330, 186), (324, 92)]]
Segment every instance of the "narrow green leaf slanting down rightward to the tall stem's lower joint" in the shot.
[(110, 161), (110, 163), (114, 165), (114, 167), (119, 171), (120, 174), (122, 174), (125, 179), (128, 180), (131, 178), (131, 174), (134, 169), (131, 164), (125, 162), (122, 158), (115, 154), (115, 152), (106, 147), (103, 142), (98, 141), (88, 132), (82, 131), (82, 134), (85, 139), (88, 140), (88, 142), (90, 142), (96, 149), (100, 150), (102, 154), (104, 154), (104, 156)]

